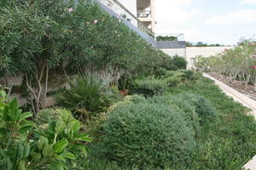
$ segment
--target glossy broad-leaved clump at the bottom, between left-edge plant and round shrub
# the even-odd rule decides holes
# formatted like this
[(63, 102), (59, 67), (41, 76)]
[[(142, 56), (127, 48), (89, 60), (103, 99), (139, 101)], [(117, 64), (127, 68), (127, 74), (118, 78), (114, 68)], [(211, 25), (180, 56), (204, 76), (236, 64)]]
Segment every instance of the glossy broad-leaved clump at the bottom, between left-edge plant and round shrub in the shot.
[(33, 145), (30, 168), (42, 167), (41, 162), (50, 170), (76, 167), (76, 159), (86, 156), (84, 143), (90, 142), (88, 135), (80, 133), (81, 123), (74, 119), (71, 112), (57, 110), (55, 121), (45, 129), (35, 130), (37, 141)]

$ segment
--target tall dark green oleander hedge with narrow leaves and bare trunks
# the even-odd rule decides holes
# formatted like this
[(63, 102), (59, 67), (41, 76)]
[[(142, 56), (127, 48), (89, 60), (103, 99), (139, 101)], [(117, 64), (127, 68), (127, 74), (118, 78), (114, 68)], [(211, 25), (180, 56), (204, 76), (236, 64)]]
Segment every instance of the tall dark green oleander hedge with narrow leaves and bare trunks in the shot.
[(37, 111), (56, 74), (110, 75), (114, 85), (124, 74), (123, 89), (171, 60), (89, 0), (10, 1), (1, 6), (0, 23), (0, 77), (24, 74)]

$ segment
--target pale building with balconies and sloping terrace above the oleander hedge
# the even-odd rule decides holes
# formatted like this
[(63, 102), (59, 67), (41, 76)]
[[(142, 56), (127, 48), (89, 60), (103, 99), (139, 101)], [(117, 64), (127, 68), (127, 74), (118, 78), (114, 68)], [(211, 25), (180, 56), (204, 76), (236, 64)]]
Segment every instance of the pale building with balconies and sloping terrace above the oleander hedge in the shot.
[[(102, 8), (123, 20), (126, 26), (136, 31), (146, 42), (159, 48), (170, 56), (186, 58), (186, 42), (183, 34), (165, 34), (160, 36), (177, 37), (175, 41), (156, 41), (154, 3), (156, 0), (97, 0)], [(106, 8), (107, 7), (107, 8)]]

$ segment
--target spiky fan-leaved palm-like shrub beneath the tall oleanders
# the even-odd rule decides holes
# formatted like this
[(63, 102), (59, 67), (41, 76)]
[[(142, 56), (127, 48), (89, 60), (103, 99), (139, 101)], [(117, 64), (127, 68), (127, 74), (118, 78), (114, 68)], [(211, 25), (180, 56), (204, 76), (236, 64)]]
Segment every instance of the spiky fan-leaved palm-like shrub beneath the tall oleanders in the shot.
[(69, 86), (57, 95), (57, 99), (61, 106), (72, 111), (106, 111), (116, 97), (108, 83), (96, 77), (80, 77)]

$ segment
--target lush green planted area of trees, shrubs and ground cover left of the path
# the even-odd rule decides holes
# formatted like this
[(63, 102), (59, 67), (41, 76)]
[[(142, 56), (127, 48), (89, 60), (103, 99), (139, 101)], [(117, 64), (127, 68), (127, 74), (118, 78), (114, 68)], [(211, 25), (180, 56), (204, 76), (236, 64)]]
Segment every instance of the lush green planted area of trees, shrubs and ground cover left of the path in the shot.
[(1, 170), (236, 170), (256, 155), (247, 108), (96, 3), (0, 7)]

